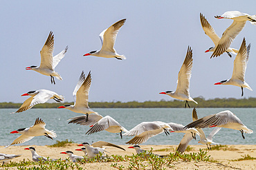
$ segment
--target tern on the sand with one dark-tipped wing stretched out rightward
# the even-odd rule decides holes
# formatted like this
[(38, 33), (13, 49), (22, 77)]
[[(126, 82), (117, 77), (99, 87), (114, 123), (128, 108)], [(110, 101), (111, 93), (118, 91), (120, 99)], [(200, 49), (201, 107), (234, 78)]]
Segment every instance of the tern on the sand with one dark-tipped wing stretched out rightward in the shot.
[(93, 142), (92, 147), (89, 145), (88, 142), (83, 142), (82, 144), (80, 144), (78, 146), (84, 146), (86, 148), (86, 152), (87, 152), (89, 158), (94, 158), (100, 152), (104, 153), (105, 149), (107, 149), (107, 148), (103, 147), (103, 146), (116, 147), (118, 149), (122, 149), (125, 151), (124, 148), (122, 148), (118, 145), (114, 145), (113, 143), (104, 142), (104, 141)]

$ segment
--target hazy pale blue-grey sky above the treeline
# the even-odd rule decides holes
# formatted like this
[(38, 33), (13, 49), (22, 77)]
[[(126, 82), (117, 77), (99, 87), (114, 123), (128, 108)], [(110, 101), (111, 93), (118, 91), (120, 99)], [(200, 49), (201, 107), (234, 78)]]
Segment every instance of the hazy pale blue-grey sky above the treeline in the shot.
[[(91, 70), (89, 101), (171, 100), (159, 92), (176, 89), (178, 72), (188, 45), (193, 50), (190, 95), (192, 98), (241, 98), (241, 89), (214, 85), (232, 76), (232, 59), (227, 54), (210, 59), (213, 46), (204, 34), (200, 12), (215, 32), (221, 34), (232, 23), (215, 19), (226, 11), (256, 14), (256, 1), (0, 1), (1, 92), (0, 102), (23, 102), (30, 90), (49, 89), (73, 101), (73, 89), (82, 70)], [(116, 51), (127, 59), (104, 59), (83, 54), (100, 50), (99, 34), (120, 19), (127, 19), (116, 39)], [(68, 52), (55, 68), (63, 78), (51, 78), (25, 70), (40, 64), (50, 31), (55, 36), (54, 55), (68, 45)], [(256, 25), (246, 23), (231, 47), (239, 49), (243, 37), (251, 43), (244, 97), (256, 97)]]

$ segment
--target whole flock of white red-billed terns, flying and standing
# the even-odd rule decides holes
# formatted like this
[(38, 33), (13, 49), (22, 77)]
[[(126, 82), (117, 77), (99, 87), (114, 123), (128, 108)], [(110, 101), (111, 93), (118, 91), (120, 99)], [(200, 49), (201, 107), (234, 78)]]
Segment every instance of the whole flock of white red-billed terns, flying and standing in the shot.
[[(234, 48), (230, 47), (230, 44), (232, 43), (233, 39), (241, 32), (241, 30), (244, 28), (246, 21), (250, 21), (253, 25), (256, 25), (256, 15), (249, 15), (238, 11), (228, 11), (222, 14), (221, 16), (215, 17), (217, 19), (233, 19), (232, 25), (226, 29), (225, 32), (223, 32), (221, 38), (217, 36), (217, 34), (214, 32), (214, 29), (208, 23), (208, 21), (205, 19), (203, 14), (200, 14), (200, 20), (201, 25), (203, 27), (203, 30), (205, 34), (207, 34), (210, 39), (212, 39), (214, 43), (214, 47), (210, 47), (205, 52), (213, 52), (212, 57), (220, 56), (224, 52), (227, 52), (228, 55), (231, 57), (231, 54), (237, 54), (235, 61), (234, 61), (234, 70), (232, 73), (232, 77), (225, 81), (220, 81), (219, 83), (215, 83), (214, 85), (235, 85), (238, 87), (241, 87), (241, 96), (244, 95), (243, 88), (247, 88), (250, 90), (253, 90), (250, 88), (248, 83), (245, 82), (245, 72), (246, 72), (246, 66), (248, 63), (248, 57), (249, 57), (249, 51), (250, 51), (250, 44), (246, 47), (246, 40), (243, 39), (241, 43), (241, 47), (239, 50), (236, 50)], [(114, 49), (114, 43), (116, 41), (116, 36), (118, 34), (118, 31), (124, 25), (126, 19), (122, 19), (113, 25), (111, 25), (106, 30), (103, 30), (100, 33), (100, 40), (102, 41), (102, 48), (101, 50), (95, 50), (92, 52), (89, 52), (87, 54), (84, 54), (84, 56), (100, 56), (105, 58), (116, 58), (119, 60), (126, 59), (124, 55), (120, 55), (116, 52)], [(55, 72), (55, 67), (57, 64), (63, 59), (65, 56), (68, 47), (66, 47), (60, 54), (57, 54), (56, 56), (53, 56), (53, 47), (54, 45), (54, 35), (53, 32), (50, 32), (48, 35), (48, 38), (46, 40), (46, 43), (44, 44), (40, 54), (41, 54), (41, 64), (39, 67), (33, 65), (30, 67), (26, 67), (26, 70), (34, 70), (36, 72), (39, 72), (40, 74), (44, 74), (46, 76), (51, 77), (51, 83), (55, 84), (55, 78), (58, 80), (62, 80), (62, 77), (60, 74)], [(167, 94), (168, 96), (171, 96), (173, 98), (177, 98), (180, 100), (185, 100), (185, 107), (188, 105), (190, 107), (188, 101), (192, 101), (197, 104), (197, 102), (190, 96), (189, 87), (190, 87), (190, 77), (192, 74), (192, 49), (189, 46), (188, 52), (185, 56), (185, 60), (183, 62), (183, 65), (181, 66), (181, 70), (179, 71), (178, 75), (178, 82), (176, 91), (167, 91), (167, 92), (161, 92), (160, 94)], [(86, 125), (90, 126), (91, 129), (86, 132), (86, 134), (93, 134), (99, 131), (109, 131), (110, 133), (120, 133), (120, 137), (122, 138), (122, 132), (125, 132), (123, 134), (124, 136), (134, 136), (131, 140), (126, 142), (129, 145), (134, 145), (133, 147), (136, 150), (136, 153), (140, 153), (144, 151), (143, 149), (140, 149), (139, 144), (146, 142), (149, 138), (152, 138), (153, 136), (156, 136), (158, 134), (161, 134), (165, 132), (166, 135), (177, 132), (177, 133), (185, 133), (183, 136), (179, 147), (177, 148), (177, 151), (183, 153), (188, 146), (188, 143), (192, 139), (196, 139), (196, 135), (200, 136), (199, 143), (203, 145), (207, 145), (208, 149), (210, 149), (211, 144), (216, 144), (212, 141), (212, 137), (217, 134), (217, 132), (221, 129), (221, 127), (230, 128), (230, 129), (236, 129), (241, 131), (241, 135), (244, 138), (244, 133), (251, 134), (253, 133), (253, 130), (248, 129), (246, 125), (244, 125), (235, 114), (233, 114), (231, 111), (221, 111), (218, 114), (212, 114), (210, 116), (205, 116), (203, 118), (197, 118), (196, 109), (193, 109), (192, 112), (192, 120), (193, 122), (183, 126), (181, 124), (177, 123), (163, 123), (161, 121), (154, 121), (154, 122), (143, 122), (139, 125), (136, 125), (131, 130), (125, 129), (125, 127), (122, 127), (116, 120), (111, 118), (111, 116), (101, 116), (97, 112), (93, 111), (89, 108), (89, 89), (91, 86), (91, 72), (87, 76), (85, 76), (84, 71), (82, 71), (82, 74), (80, 75), (80, 78), (77, 82), (77, 85), (75, 86), (75, 89), (73, 91), (73, 97), (75, 98), (74, 105), (63, 105), (58, 108), (64, 108), (69, 109), (71, 111), (74, 111), (76, 113), (85, 114), (82, 116), (76, 116), (73, 118), (68, 119), (68, 123), (75, 123), (77, 125)], [(61, 96), (55, 92), (52, 92), (50, 90), (46, 89), (39, 89), (36, 91), (30, 91), (26, 94), (23, 94), (21, 96), (30, 96), (27, 100), (24, 101), (24, 103), (21, 105), (21, 107), (15, 112), (19, 113), (22, 111), (26, 111), (27, 109), (30, 109), (34, 105), (37, 105), (39, 103), (45, 103), (49, 99), (53, 99), (56, 102), (63, 102), (64, 96)], [(10, 145), (16, 145), (19, 143), (26, 142), (35, 136), (46, 136), (47, 138), (56, 138), (57, 135), (55, 134), (55, 131), (49, 131), (48, 129), (45, 129), (46, 123), (41, 118), (37, 118), (35, 120), (35, 124), (31, 127), (27, 128), (21, 128), (17, 129), (16, 131), (10, 132), (10, 134), (21, 134), (18, 138), (16, 138)], [(206, 138), (205, 134), (203, 133), (202, 128), (205, 127), (215, 127), (214, 130), (210, 133), (210, 135)], [(9, 147), (10, 145), (6, 146)], [(84, 146), (82, 149), (76, 149), (77, 151), (84, 151), (84, 153), (89, 156), (89, 158), (95, 157), (98, 153), (104, 153), (105, 149), (104, 146), (111, 146), (111, 147), (117, 147), (119, 149), (125, 150), (122, 147), (118, 145), (111, 144), (109, 142), (103, 142), (98, 141), (94, 142), (92, 146), (89, 145), (88, 142), (84, 142), (79, 146)], [(30, 150), (33, 155), (34, 161), (39, 161), (39, 158), (46, 160), (46, 158), (39, 156), (37, 152), (35, 151), (34, 147), (25, 148), (27, 150)], [(73, 162), (75, 162), (77, 159), (82, 159), (83, 157), (75, 156), (72, 151), (65, 151), (62, 152), (64, 154), (67, 154)], [(13, 155), (13, 154), (3, 154), (0, 153), (0, 162), (8, 162), (12, 158), (17, 158), (21, 155)]]

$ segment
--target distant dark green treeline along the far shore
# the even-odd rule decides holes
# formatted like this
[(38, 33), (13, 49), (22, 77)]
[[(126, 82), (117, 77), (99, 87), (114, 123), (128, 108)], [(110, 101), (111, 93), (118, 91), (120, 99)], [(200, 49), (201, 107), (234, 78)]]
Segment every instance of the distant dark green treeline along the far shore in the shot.
[[(203, 97), (194, 98), (199, 104), (190, 102), (190, 107), (256, 107), (256, 98), (214, 98), (205, 100)], [(22, 103), (0, 103), (0, 108), (19, 108)], [(33, 108), (57, 108), (61, 105), (73, 103), (44, 103), (35, 105)], [(131, 101), (117, 102), (91, 102), (91, 108), (158, 108), (158, 107), (184, 107), (185, 101), (161, 100), (161, 101)]]

